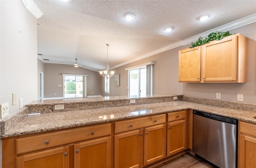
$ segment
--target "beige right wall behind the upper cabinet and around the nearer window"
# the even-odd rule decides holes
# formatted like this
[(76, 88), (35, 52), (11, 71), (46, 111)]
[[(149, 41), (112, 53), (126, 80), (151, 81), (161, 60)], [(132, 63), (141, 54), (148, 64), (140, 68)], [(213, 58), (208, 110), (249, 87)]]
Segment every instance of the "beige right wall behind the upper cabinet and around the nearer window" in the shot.
[[(111, 78), (110, 96), (127, 95), (128, 72), (125, 68), (154, 61), (153, 94), (172, 93), (196, 98), (216, 99), (216, 92), (220, 92), (221, 100), (231, 102), (237, 102), (237, 94), (244, 94), (243, 103), (256, 104), (256, 23), (251, 23), (230, 32), (241, 33), (248, 37), (246, 84), (179, 83), (178, 51), (189, 47), (189, 44), (113, 69), (115, 74), (120, 74), (120, 87), (114, 86), (114, 78)], [(103, 80), (102, 85), (104, 85)], [(109, 95), (106, 94), (106, 96)]]

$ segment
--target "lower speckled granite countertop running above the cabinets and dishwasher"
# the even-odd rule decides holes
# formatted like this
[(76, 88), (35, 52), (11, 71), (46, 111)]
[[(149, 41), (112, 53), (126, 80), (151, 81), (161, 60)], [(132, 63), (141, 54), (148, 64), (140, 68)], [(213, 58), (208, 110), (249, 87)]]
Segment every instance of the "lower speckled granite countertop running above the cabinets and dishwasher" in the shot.
[(256, 123), (256, 119), (253, 118), (256, 116), (255, 111), (220, 107), (216, 105), (207, 105), (187, 101), (175, 101), (77, 111), (41, 113), (40, 115), (26, 116), (14, 127), (5, 130), (4, 133), (1, 133), (0, 137), (5, 138), (16, 135), (39, 133), (44, 131), (117, 121), (121, 119), (142, 117), (183, 109), (196, 109), (208, 113), (231, 117), (234, 119), (240, 119), (242, 121)]

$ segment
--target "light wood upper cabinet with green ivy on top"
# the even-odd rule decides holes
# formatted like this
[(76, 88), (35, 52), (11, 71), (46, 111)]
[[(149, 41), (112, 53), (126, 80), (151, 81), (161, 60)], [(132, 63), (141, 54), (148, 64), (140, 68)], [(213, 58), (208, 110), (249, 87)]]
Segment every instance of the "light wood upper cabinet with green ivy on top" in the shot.
[(246, 37), (238, 33), (180, 50), (179, 82), (246, 82)]

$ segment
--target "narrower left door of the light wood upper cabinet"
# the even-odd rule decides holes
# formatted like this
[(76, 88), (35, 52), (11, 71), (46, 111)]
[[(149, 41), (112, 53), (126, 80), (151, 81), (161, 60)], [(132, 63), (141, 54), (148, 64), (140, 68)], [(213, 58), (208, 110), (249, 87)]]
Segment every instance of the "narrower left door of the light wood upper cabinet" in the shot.
[(201, 46), (179, 51), (179, 82), (200, 82)]

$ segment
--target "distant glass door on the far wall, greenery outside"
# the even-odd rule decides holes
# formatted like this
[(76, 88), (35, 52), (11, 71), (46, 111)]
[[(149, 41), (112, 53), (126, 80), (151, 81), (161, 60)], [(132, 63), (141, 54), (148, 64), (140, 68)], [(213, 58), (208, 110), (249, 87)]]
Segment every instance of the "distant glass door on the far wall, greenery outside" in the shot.
[(76, 74), (63, 75), (63, 97), (64, 98), (84, 98), (86, 94), (86, 76)]

